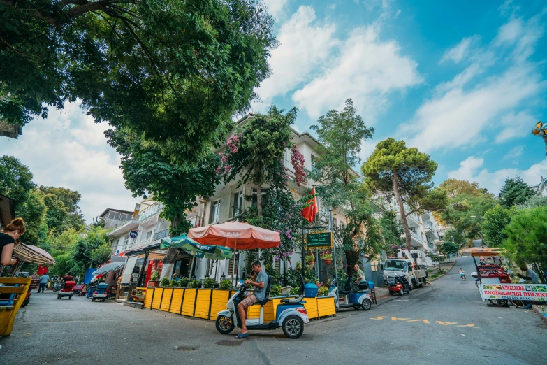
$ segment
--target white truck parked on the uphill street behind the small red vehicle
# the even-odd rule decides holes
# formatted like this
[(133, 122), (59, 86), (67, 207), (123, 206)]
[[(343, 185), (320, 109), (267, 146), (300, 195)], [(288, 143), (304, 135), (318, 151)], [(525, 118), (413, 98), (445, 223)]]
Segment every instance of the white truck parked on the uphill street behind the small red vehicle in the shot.
[(420, 251), (397, 250), (397, 258), (388, 258), (384, 262), (384, 279), (404, 275), (410, 289), (424, 287), (428, 270)]

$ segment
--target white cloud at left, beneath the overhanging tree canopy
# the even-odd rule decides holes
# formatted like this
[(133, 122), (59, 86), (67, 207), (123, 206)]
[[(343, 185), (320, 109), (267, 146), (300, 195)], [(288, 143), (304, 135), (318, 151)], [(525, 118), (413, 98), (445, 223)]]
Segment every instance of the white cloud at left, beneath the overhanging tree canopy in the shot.
[(124, 187), (119, 155), (107, 143), (108, 124), (95, 124), (79, 108), (66, 103), (47, 120), (34, 120), (17, 140), (2, 138), (0, 155), (13, 155), (34, 174), (38, 185), (66, 187), (82, 194), (86, 220), (105, 208), (132, 210), (138, 199)]

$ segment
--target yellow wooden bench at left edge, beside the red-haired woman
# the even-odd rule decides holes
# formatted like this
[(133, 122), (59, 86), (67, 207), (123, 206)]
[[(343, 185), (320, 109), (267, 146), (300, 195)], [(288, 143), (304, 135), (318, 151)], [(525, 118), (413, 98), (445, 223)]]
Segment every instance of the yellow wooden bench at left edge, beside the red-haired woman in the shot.
[[(0, 306), (0, 336), (9, 336), (13, 329), (13, 321), (17, 315), (17, 310), (21, 307), (25, 296), (31, 285), (31, 278), (0, 278), (0, 294), (17, 295), (15, 301), (11, 298), (10, 306)], [(17, 286), (15, 286), (17, 285)]]

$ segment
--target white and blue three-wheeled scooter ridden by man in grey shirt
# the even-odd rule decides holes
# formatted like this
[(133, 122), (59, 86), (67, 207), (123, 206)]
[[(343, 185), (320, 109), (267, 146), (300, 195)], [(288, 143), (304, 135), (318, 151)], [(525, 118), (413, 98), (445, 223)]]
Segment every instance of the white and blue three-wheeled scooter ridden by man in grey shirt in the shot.
[[(305, 301), (302, 301), (305, 295), (304, 278), (300, 276), (302, 284), (298, 291), (298, 298), (295, 299), (282, 299), (281, 303), (277, 305), (275, 313), (275, 319), (269, 323), (264, 323), (264, 305), (270, 299), (270, 287), (272, 286), (272, 280), (268, 278), (268, 285), (266, 287), (265, 299), (259, 301), (260, 304), (260, 317), (253, 318), (251, 320), (245, 320), (247, 329), (249, 331), (265, 330), (265, 329), (278, 329), (282, 327), (283, 333), (288, 338), (298, 338), (304, 333), (304, 324), (309, 322), (307, 317), (306, 308), (304, 308)], [(226, 306), (228, 309), (222, 310), (218, 313), (217, 317), (217, 330), (221, 334), (229, 334), (237, 326), (241, 328), (240, 315), (238, 313), (238, 304), (243, 300), (243, 294), (247, 290), (247, 284), (240, 281), (238, 285), (238, 292), (235, 292), (233, 296), (228, 300)], [(316, 296), (316, 293), (309, 293), (309, 296)]]

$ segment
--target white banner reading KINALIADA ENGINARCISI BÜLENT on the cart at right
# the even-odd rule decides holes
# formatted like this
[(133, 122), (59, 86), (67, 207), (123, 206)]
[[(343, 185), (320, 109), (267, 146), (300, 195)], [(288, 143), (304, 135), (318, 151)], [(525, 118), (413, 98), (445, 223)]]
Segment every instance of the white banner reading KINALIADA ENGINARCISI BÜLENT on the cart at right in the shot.
[(547, 301), (545, 284), (481, 284), (483, 301), (486, 299), (508, 299), (511, 301)]

